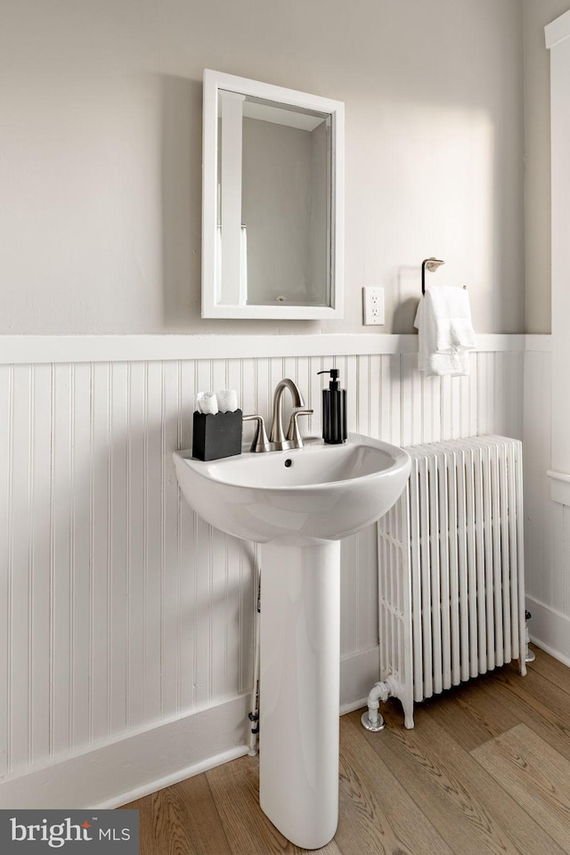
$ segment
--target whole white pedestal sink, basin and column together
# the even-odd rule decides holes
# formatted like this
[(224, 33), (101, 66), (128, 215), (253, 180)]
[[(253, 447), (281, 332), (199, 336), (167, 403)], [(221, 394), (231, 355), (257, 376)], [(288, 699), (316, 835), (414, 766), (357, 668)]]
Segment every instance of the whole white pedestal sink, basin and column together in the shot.
[(201, 517), (262, 543), (259, 801), (291, 843), (318, 849), (338, 822), (340, 540), (392, 507), (410, 458), (350, 434), (343, 445), (174, 460)]

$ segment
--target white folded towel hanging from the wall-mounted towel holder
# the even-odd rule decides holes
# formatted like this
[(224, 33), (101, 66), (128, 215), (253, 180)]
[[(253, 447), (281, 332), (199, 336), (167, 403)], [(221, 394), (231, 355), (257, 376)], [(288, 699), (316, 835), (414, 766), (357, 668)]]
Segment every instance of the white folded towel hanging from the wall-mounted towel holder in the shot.
[(419, 371), (428, 376), (468, 374), (468, 351), (476, 347), (468, 292), (436, 285), (419, 301), (414, 326), (419, 332)]

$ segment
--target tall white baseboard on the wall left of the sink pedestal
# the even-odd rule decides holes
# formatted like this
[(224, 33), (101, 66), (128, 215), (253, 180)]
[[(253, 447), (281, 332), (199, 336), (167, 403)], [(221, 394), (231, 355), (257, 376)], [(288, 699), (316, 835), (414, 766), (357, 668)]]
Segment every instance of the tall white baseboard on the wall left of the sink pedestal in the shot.
[(248, 753), (249, 695), (0, 782), (0, 808), (116, 808)]

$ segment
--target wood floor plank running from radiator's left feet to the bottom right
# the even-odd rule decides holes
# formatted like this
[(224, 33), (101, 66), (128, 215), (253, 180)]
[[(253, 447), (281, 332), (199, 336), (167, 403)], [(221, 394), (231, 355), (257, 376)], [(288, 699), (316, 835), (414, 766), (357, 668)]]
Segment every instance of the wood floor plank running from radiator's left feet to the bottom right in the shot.
[[(384, 710), (383, 710), (384, 712)], [(363, 731), (420, 810), (457, 855), (563, 855), (531, 816), (522, 810), (470, 753), (429, 713), (417, 708), (416, 727)], [(354, 715), (354, 713), (353, 713)]]

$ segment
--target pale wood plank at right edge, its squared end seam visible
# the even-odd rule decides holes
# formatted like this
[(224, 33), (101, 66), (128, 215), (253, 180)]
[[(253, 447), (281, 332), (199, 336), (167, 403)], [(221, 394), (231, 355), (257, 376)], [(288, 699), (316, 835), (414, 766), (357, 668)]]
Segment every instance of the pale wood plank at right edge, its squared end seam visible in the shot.
[(570, 761), (525, 724), (471, 754), (570, 853)]

